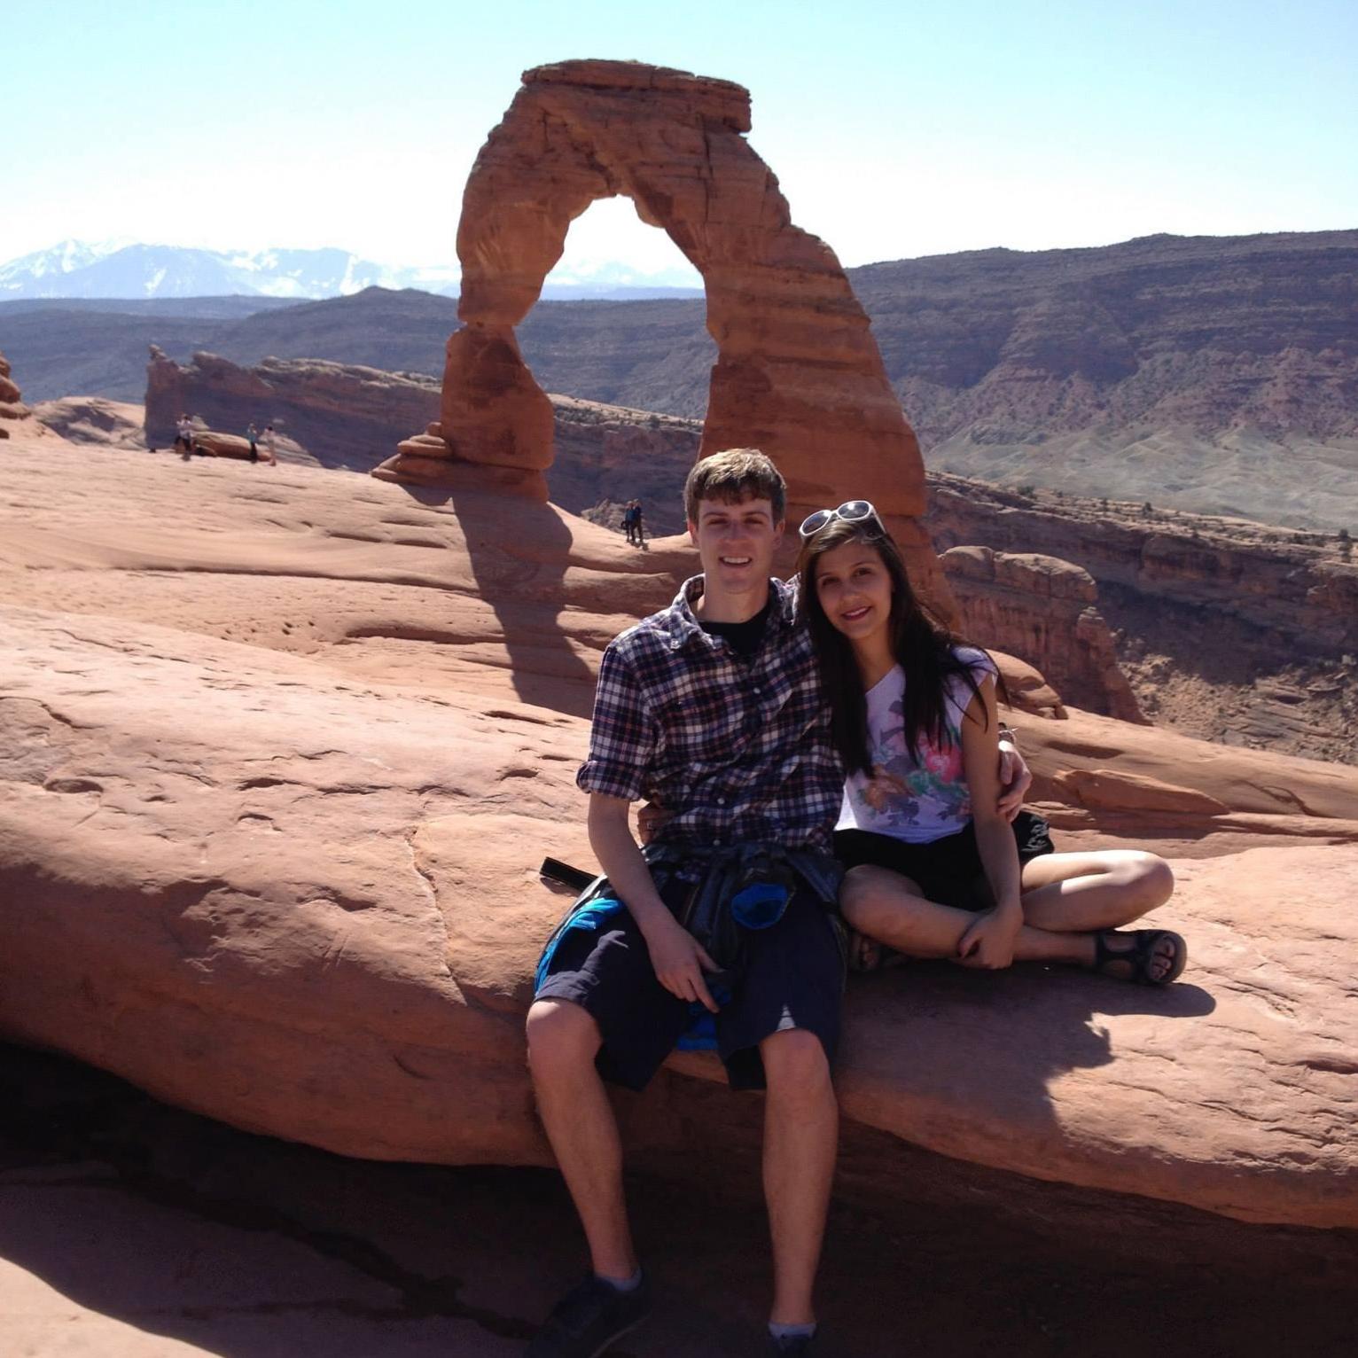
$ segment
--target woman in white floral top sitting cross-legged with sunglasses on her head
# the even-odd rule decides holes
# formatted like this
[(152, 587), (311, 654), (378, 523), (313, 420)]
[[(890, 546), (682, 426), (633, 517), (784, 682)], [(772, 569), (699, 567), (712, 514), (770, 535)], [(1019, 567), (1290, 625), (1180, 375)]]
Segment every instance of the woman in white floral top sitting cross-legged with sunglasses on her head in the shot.
[(1038, 816), (1010, 824), (995, 809), (995, 664), (918, 602), (872, 505), (820, 509), (801, 536), (803, 607), (847, 771), (835, 851), (858, 964), (885, 945), (967, 967), (1063, 961), (1153, 986), (1179, 976), (1179, 934), (1118, 932), (1169, 899), (1161, 858), (1055, 853)]

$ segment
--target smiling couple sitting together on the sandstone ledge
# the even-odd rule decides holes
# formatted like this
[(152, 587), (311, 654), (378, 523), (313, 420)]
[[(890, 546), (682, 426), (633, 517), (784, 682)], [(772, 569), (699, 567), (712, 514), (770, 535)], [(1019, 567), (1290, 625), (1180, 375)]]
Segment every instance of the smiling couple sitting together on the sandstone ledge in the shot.
[(600, 664), (577, 782), (604, 876), (543, 949), (527, 1019), (591, 1266), (530, 1358), (592, 1358), (650, 1308), (606, 1081), (641, 1089), (686, 1039), (716, 1047), (733, 1088), (766, 1090), (760, 1342), (807, 1354), (846, 968), (1042, 961), (1165, 986), (1187, 960), (1177, 933), (1122, 928), (1169, 898), (1162, 860), (1059, 853), (1021, 809), (998, 667), (917, 595), (873, 505), (807, 515), (782, 581), (785, 500), (759, 451), (698, 462), (684, 511), (702, 573)]

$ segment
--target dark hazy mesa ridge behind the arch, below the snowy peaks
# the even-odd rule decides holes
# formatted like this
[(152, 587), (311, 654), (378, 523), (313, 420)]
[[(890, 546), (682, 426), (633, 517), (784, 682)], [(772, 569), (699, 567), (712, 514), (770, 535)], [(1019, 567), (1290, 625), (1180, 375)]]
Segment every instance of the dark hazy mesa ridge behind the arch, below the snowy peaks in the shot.
[[(1358, 231), (978, 250), (849, 278), (932, 471), (1358, 532)], [(29, 401), (140, 401), (152, 342), (437, 378), (458, 325), (451, 297), (414, 289), (0, 301), (0, 350)], [(701, 299), (549, 300), (519, 341), (547, 391), (705, 411)]]

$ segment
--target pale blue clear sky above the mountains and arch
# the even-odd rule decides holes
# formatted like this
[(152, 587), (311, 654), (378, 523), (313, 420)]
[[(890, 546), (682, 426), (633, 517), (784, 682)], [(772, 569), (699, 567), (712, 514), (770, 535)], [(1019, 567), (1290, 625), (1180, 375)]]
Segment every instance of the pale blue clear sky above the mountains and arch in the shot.
[[(1168, 231), (1358, 227), (1355, 0), (8, 0), (0, 262), (68, 236), (455, 263), (528, 67), (636, 58), (752, 95), (845, 265)], [(630, 204), (564, 265), (683, 266)]]

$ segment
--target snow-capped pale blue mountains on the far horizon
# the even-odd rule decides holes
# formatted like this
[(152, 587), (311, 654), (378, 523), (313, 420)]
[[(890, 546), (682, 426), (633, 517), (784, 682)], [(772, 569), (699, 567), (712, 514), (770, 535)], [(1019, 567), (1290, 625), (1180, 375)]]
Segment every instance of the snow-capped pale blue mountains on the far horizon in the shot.
[[(0, 300), (167, 299), (259, 296), (292, 300), (348, 297), (364, 288), (418, 288), (455, 297), (459, 270), (373, 263), (345, 250), (191, 250), (182, 246), (61, 240), (48, 250), (0, 265)], [(543, 296), (697, 297), (702, 289), (680, 270), (640, 274), (599, 262), (576, 276), (549, 280)]]

